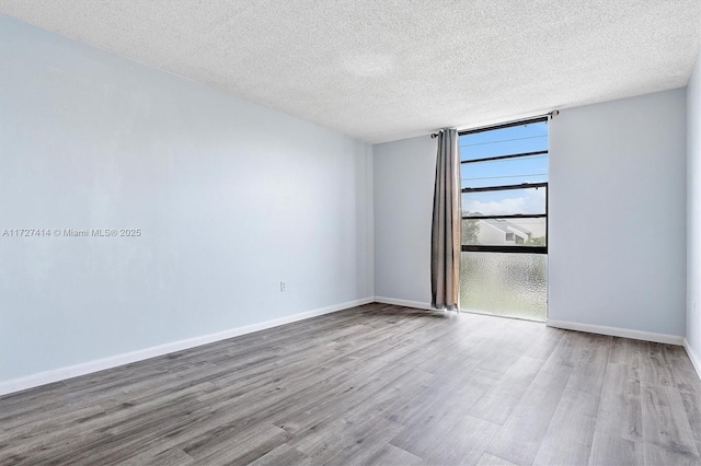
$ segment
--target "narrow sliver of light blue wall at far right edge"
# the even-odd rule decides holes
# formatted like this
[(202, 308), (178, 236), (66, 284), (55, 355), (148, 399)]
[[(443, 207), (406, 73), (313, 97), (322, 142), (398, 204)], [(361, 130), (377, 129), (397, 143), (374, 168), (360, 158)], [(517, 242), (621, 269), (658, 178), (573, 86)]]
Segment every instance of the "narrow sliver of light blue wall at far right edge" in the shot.
[(687, 340), (701, 363), (701, 58), (687, 86)]

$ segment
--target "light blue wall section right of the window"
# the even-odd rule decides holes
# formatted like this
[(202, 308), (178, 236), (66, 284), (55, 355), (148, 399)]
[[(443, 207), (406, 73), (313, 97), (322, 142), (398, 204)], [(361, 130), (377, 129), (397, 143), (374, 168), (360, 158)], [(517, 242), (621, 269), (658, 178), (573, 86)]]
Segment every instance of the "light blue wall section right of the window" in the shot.
[(550, 124), (549, 318), (686, 330), (686, 92)]

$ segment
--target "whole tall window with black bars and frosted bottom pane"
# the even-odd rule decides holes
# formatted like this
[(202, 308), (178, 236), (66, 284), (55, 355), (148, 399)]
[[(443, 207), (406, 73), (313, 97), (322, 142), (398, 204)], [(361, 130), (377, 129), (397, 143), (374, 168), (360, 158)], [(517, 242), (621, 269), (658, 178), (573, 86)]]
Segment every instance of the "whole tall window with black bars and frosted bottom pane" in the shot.
[(544, 321), (548, 119), (460, 133), (463, 310)]

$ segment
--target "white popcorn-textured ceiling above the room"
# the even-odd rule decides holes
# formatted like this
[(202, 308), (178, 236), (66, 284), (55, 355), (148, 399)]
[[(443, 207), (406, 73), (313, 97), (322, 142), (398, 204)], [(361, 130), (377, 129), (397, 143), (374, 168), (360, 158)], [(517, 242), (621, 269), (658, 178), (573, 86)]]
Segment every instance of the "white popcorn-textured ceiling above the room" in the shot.
[(369, 142), (683, 86), (699, 0), (0, 0)]

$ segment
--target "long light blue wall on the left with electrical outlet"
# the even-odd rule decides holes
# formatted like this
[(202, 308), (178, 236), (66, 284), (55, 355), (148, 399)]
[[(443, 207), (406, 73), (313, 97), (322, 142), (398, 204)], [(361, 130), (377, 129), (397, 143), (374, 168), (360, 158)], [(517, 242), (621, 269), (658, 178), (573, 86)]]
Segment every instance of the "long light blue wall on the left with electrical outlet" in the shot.
[(372, 296), (371, 159), (0, 16), (0, 231), (142, 231), (0, 237), (0, 381)]

